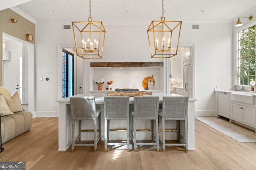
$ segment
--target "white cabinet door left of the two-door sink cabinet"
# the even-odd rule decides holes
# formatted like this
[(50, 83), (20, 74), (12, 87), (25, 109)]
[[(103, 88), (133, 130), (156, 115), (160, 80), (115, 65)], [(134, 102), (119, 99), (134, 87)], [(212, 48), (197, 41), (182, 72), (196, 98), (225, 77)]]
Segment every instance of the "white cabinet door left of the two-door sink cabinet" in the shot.
[(230, 118), (230, 109), (229, 109), (229, 93), (218, 92), (217, 96), (217, 112), (218, 115)]

